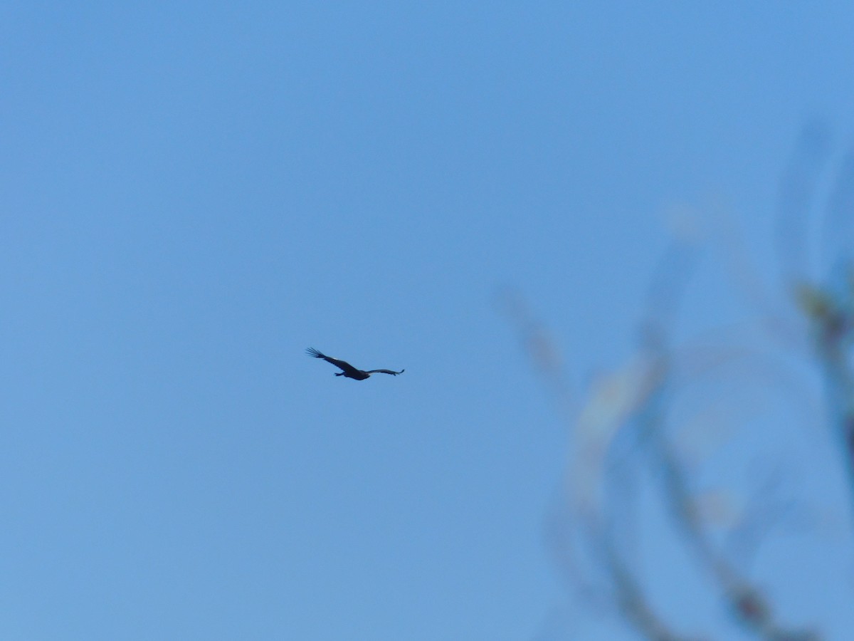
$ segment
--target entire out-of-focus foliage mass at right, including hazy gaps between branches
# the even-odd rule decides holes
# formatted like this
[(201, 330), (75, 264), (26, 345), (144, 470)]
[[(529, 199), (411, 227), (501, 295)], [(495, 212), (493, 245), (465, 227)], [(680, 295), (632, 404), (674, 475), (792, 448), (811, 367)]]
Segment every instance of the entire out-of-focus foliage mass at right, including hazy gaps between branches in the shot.
[[(823, 194), (828, 167), (837, 171)], [(813, 577), (769, 585), (755, 560), (781, 532), (797, 530), (822, 548), (828, 495), (810, 483), (822, 470), (844, 469), (831, 475), (839, 485), (831, 496), (847, 496), (854, 508), (854, 151), (834, 162), (828, 133), (804, 127), (775, 219), (781, 287), (764, 285), (722, 240), (732, 285), (748, 292), (761, 336), (739, 340), (730, 328), (711, 341), (676, 342), (677, 311), (705, 244), (700, 217), (681, 211), (650, 285), (636, 353), (580, 395), (546, 330), (520, 297), (505, 296), (570, 425), (549, 529), (556, 565), (574, 607), (623, 620), (642, 638), (825, 638), (822, 620), (801, 620), (777, 595), (778, 587), (806, 595), (828, 586)], [(808, 451), (809, 430), (820, 427), (835, 435), (835, 460)], [(854, 509), (834, 508), (854, 517)], [(850, 538), (851, 527), (842, 529)], [(778, 553), (779, 575), (808, 558)], [(655, 588), (681, 580), (693, 595), (689, 611)], [(575, 628), (566, 628), (571, 636)], [(587, 638), (577, 629), (576, 637)]]

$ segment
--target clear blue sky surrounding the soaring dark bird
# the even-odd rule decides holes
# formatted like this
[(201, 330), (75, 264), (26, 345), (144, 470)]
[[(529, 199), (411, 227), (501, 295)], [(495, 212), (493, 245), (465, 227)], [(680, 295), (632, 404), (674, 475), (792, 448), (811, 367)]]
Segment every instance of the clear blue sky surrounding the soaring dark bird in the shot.
[(854, 132), (852, 33), (844, 2), (0, 4), (0, 638), (551, 634), (568, 426), (495, 291), (583, 388), (674, 206), (727, 203), (763, 262), (804, 122)]

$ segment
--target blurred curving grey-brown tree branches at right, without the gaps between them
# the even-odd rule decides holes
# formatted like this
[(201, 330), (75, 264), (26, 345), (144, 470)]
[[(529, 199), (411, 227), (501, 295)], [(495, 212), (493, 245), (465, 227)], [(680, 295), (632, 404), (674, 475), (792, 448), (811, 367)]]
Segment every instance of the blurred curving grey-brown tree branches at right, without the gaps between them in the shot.
[[(810, 275), (808, 239), (810, 217), (816, 209), (816, 185), (827, 156), (828, 137), (822, 128), (805, 127), (781, 179), (776, 217), (777, 256), (781, 279), (789, 292), (789, 316), (772, 312), (771, 306), (764, 304), (769, 300), (764, 295), (758, 313), (763, 326), (772, 329), (771, 338), (788, 336), (798, 344), (813, 345), (812, 359), (822, 371), (826, 415), (839, 436), (854, 515), (854, 153), (842, 163), (828, 198), (824, 233), (834, 242), (824, 245), (834, 245), (838, 250), (834, 256), (825, 257), (831, 267), (816, 278)], [(829, 232), (828, 226), (832, 228)], [(559, 350), (544, 326), (535, 321), (518, 293), (501, 292), (502, 309), (518, 332), (525, 353), (561, 417), (572, 426), (570, 462), (559, 493), (560, 516), (555, 521), (558, 526), (550, 532), (550, 544), (576, 597), (591, 607), (618, 613), (642, 638), (712, 638), (708, 631), (686, 632), (690, 620), (675, 620), (665, 614), (666, 610), (648, 594), (636, 550), (626, 544), (636, 525), (625, 518), (625, 513), (629, 504), (637, 501), (626, 491), (632, 480), (621, 483), (619, 476), (630, 476), (626, 470), (640, 463), (640, 468), (657, 479), (658, 500), (670, 515), (671, 528), (690, 551), (695, 571), (717, 592), (724, 606), (721, 614), (731, 625), (752, 638), (820, 639), (822, 634), (815, 624), (788, 623), (769, 591), (752, 579), (743, 562), (734, 561), (727, 545), (711, 535), (690, 466), (682, 461), (671, 436), (676, 419), (670, 409), (688, 375), (690, 367), (686, 364), (690, 365), (695, 356), (689, 346), (673, 345), (672, 330), (699, 256), (696, 240), (692, 233), (674, 239), (649, 288), (637, 353), (623, 368), (595, 380), (582, 402), (570, 391)], [(746, 270), (739, 275), (752, 279), (751, 291), (758, 297), (758, 279)], [(787, 331), (775, 332), (780, 327)], [(722, 346), (716, 356), (718, 364), (734, 360), (737, 354), (732, 346)], [(797, 394), (797, 386), (795, 390)], [(792, 391), (785, 391), (785, 395), (792, 400)], [(629, 454), (618, 446), (626, 442), (634, 444)], [(730, 543), (757, 548), (787, 505), (786, 501), (775, 503), (769, 495), (757, 497), (730, 528)]]

